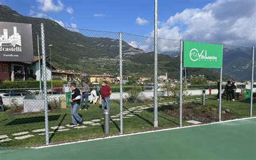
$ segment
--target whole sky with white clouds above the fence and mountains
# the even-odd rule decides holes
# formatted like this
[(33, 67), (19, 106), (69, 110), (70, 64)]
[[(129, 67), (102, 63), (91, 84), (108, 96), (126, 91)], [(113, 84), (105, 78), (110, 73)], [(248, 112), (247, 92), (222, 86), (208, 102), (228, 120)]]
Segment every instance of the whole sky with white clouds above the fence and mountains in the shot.
[[(62, 26), (153, 36), (154, 0), (0, 0)], [(255, 0), (158, 0), (158, 37), (256, 45)], [(133, 42), (134, 46), (136, 42)]]

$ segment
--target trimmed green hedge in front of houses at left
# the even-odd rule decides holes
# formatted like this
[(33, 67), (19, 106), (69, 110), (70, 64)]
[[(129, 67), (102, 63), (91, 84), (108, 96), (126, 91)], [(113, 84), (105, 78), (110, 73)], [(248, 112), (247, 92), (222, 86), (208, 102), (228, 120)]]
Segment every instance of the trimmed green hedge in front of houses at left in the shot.
[[(53, 88), (62, 87), (67, 82), (61, 80), (53, 80)], [(43, 87), (43, 82), (42, 82)], [(47, 87), (51, 87), (51, 81), (47, 82)], [(0, 89), (24, 89), (24, 88), (39, 88), (39, 81), (4, 81), (0, 83)]]

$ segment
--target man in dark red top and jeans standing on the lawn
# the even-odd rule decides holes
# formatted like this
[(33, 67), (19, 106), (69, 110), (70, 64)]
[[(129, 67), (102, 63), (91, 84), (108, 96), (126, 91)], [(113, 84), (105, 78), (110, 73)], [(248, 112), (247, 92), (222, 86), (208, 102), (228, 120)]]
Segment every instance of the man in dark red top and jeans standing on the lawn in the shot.
[(107, 111), (110, 110), (109, 98), (111, 95), (111, 88), (106, 83), (106, 81), (102, 82), (102, 89), (100, 90), (100, 96), (102, 96), (102, 110), (105, 110), (105, 103), (107, 107)]

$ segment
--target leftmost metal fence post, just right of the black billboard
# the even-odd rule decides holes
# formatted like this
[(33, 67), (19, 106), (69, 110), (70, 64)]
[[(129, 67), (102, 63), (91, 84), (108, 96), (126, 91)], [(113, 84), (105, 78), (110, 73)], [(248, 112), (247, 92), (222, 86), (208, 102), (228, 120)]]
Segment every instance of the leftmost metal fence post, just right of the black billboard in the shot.
[(47, 75), (46, 75), (46, 57), (44, 43), (44, 24), (41, 23), (41, 41), (42, 41), (42, 57), (43, 57), (43, 81), (44, 81), (44, 119), (45, 119), (45, 144), (49, 144), (49, 126), (48, 126), (48, 98), (47, 98)]

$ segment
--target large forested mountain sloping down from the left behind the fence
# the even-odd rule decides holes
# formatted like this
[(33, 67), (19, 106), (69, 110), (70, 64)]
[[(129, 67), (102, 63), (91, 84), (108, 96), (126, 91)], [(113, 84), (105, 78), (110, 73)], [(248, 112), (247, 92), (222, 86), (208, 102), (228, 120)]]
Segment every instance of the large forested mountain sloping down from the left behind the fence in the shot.
[[(97, 32), (65, 28), (56, 21), (46, 18), (26, 17), (0, 5), (0, 21), (32, 24), (33, 50), (37, 55), (37, 34), (41, 34), (40, 25), (45, 28), (45, 52), (49, 56), (49, 45), (52, 44), (52, 64), (56, 68), (76, 70), (87, 74), (118, 75), (119, 39), (118, 33)], [(140, 77), (153, 77), (154, 54), (145, 53), (142, 49), (123, 43), (123, 74)], [(41, 42), (39, 42), (41, 47)], [(179, 57), (165, 54), (158, 55), (158, 72), (166, 72), (171, 78), (179, 78)], [(187, 69), (187, 75), (204, 74), (208, 79), (218, 79), (218, 74), (207, 69)]]

